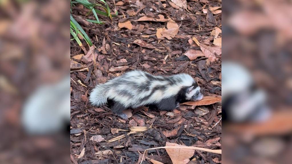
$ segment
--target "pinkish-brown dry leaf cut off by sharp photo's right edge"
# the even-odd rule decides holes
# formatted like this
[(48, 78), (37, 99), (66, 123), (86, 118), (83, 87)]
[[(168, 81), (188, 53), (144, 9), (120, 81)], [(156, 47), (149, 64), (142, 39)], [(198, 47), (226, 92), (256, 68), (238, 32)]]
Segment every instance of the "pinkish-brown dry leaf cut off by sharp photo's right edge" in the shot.
[(205, 57), (208, 57), (210, 62), (214, 62), (215, 60), (218, 60), (220, 57), (222, 50), (219, 46), (206, 46), (203, 44), (200, 44), (200, 48), (205, 55)]

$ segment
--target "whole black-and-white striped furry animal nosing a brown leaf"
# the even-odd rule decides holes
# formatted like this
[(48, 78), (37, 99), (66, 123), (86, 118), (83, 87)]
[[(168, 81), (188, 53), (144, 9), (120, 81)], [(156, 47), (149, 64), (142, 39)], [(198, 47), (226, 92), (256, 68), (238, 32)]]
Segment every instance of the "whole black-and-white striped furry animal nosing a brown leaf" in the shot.
[(122, 113), (128, 108), (149, 106), (159, 110), (171, 111), (180, 102), (203, 98), (200, 87), (188, 74), (173, 76), (153, 76), (144, 71), (128, 71), (105, 84), (97, 85), (89, 100), (95, 106), (114, 102), (112, 112), (127, 120)]

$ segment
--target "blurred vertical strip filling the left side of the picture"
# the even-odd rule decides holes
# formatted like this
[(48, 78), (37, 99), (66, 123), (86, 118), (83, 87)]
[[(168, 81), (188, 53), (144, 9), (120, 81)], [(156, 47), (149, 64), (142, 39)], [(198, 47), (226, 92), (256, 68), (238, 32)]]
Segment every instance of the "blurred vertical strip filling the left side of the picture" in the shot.
[(0, 1), (0, 163), (69, 163), (70, 4)]

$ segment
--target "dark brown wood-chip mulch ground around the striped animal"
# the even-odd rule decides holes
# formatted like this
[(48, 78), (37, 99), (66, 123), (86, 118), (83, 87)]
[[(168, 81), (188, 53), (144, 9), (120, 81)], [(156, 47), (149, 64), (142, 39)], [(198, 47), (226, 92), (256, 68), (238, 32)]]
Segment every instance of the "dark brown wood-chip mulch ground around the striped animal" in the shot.
[[(194, 36), (200, 43), (212, 45), (214, 36), (210, 33), (214, 27), (221, 27), (221, 14), (211, 13), (213, 19), (210, 21), (210, 13), (204, 14), (202, 8), (204, 5), (205, 8), (221, 6), (221, 3), (215, 0), (187, 1), (188, 10), (185, 10), (175, 9), (169, 2), (171, 1), (124, 1), (122, 6), (116, 6), (119, 13), (117, 17), (110, 20), (99, 16), (100, 20), (105, 21), (103, 25), (84, 20), (83, 18), (94, 19), (93, 14), (86, 16), (88, 10), (85, 7), (72, 8), (73, 17), (96, 47), (93, 52), (96, 57), (94, 62), (84, 57), (86, 51), (89, 51), (84, 40), (81, 41), (85, 51), (76, 41), (71, 41), (72, 163), (137, 163), (145, 149), (165, 146), (166, 142), (221, 149), (220, 102), (205, 106), (180, 105), (171, 113), (148, 111), (147, 107), (141, 107), (132, 110), (130, 121), (121, 120), (107, 106), (93, 107), (88, 102), (89, 93), (96, 84), (105, 83), (133, 69), (154, 75), (187, 73), (198, 81), (205, 96), (220, 97), (221, 58), (209, 62), (207, 57), (200, 56), (191, 61), (183, 54), (190, 49), (200, 50), (199, 46), (189, 41)], [(107, 3), (111, 9), (115, 8), (113, 1)], [(171, 18), (180, 26), (174, 38), (164, 38), (159, 43), (157, 29), (166, 27), (167, 22), (132, 21), (142, 16), (157, 18), (158, 14)], [(131, 20), (131, 30), (118, 27), (119, 22), (126, 20)], [(134, 44), (137, 39), (153, 47)], [(77, 69), (72, 70), (72, 67)], [(124, 130), (135, 125), (146, 126), (148, 129), (127, 135), (129, 131)], [(102, 136), (104, 141), (91, 140), (96, 135)], [(120, 135), (126, 136), (107, 142)], [(109, 154), (98, 153), (106, 150), (109, 150)], [(148, 151), (148, 156), (165, 164), (172, 163), (165, 149)], [(221, 156), (218, 154), (196, 151), (189, 163), (213, 164), (220, 161)], [(143, 163), (151, 162), (146, 160)]]

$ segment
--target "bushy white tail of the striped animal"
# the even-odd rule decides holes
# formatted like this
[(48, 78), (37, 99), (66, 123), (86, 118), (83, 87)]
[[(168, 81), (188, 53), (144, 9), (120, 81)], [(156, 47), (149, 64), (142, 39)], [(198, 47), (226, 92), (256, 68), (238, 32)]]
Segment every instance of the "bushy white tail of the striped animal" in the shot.
[(89, 96), (92, 105), (101, 106), (107, 103), (107, 87), (105, 84), (95, 86)]

